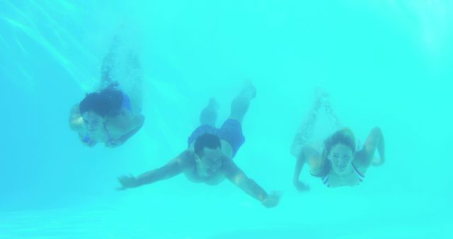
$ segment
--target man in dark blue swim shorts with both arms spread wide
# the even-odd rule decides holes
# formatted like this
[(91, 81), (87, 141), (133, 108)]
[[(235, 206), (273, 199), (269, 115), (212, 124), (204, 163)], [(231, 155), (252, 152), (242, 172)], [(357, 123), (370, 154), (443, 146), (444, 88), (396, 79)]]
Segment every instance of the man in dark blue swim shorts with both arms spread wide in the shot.
[(120, 177), (120, 190), (151, 184), (184, 173), (190, 181), (205, 182), (208, 185), (217, 185), (227, 178), (243, 192), (258, 199), (263, 206), (276, 206), (280, 197), (265, 192), (232, 160), (245, 141), (241, 123), (255, 96), (255, 87), (246, 82), (241, 93), (231, 102), (229, 119), (226, 119), (219, 129), (214, 127), (217, 103), (211, 98), (210, 103), (200, 114), (200, 127), (197, 127), (188, 138), (188, 149), (161, 168), (137, 177)]

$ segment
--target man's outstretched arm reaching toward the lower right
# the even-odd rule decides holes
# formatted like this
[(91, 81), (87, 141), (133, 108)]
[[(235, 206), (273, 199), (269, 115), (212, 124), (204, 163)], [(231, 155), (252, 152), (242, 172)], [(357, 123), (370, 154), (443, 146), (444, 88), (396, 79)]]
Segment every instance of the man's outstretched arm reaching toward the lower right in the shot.
[(226, 163), (225, 173), (228, 180), (233, 182), (234, 185), (243, 190), (243, 192), (246, 192), (251, 197), (260, 201), (264, 206), (277, 206), (280, 197), (275, 194), (267, 194), (260, 185), (248, 178), (247, 175), (232, 161)]

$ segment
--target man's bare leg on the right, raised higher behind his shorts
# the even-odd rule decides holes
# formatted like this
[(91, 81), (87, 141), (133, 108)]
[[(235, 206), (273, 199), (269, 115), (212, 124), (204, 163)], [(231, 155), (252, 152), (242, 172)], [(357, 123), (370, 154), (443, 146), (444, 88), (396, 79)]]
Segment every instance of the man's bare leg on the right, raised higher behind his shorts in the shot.
[(231, 101), (231, 112), (229, 115), (230, 119), (236, 119), (237, 121), (243, 121), (243, 117), (248, 111), (251, 100), (256, 97), (256, 88), (253, 86), (251, 81), (246, 81), (242, 88), (242, 91), (239, 93), (233, 101)]

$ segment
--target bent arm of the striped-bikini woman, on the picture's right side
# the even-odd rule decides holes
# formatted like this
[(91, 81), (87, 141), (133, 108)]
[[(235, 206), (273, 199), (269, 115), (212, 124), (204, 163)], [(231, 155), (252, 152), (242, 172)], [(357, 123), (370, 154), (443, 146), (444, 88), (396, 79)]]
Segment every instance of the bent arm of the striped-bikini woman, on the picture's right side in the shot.
[(357, 152), (354, 163), (358, 167), (368, 168), (374, 158), (374, 151), (379, 152), (380, 161), (377, 165), (382, 165), (385, 162), (385, 143), (384, 134), (379, 127), (375, 127), (369, 133), (365, 146)]

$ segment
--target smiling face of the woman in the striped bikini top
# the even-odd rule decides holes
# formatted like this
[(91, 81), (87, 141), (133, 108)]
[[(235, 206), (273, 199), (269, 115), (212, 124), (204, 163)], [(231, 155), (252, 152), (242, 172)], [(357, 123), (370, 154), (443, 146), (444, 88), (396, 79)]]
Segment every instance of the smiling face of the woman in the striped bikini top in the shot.
[(328, 154), (328, 160), (331, 161), (332, 170), (338, 175), (345, 175), (350, 172), (349, 169), (353, 158), (354, 152), (345, 144), (336, 144)]

